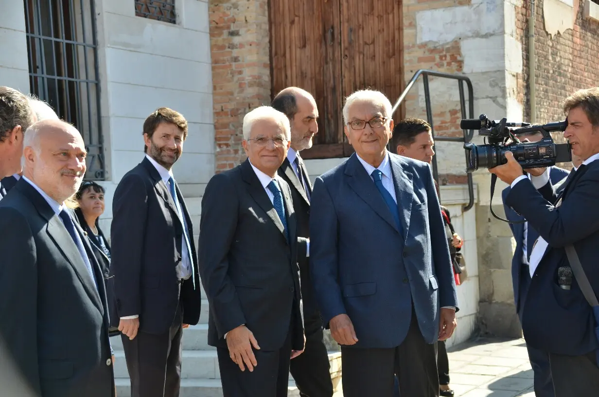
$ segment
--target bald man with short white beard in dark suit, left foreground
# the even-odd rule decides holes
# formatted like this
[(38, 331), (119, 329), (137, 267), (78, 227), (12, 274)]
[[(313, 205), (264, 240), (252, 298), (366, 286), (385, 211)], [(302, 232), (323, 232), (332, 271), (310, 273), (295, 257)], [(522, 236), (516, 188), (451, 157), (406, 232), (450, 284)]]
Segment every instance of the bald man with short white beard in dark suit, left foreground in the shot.
[(113, 396), (102, 272), (64, 204), (86, 170), (83, 138), (41, 121), (24, 147), (23, 177), (0, 201), (0, 340), (38, 396)]

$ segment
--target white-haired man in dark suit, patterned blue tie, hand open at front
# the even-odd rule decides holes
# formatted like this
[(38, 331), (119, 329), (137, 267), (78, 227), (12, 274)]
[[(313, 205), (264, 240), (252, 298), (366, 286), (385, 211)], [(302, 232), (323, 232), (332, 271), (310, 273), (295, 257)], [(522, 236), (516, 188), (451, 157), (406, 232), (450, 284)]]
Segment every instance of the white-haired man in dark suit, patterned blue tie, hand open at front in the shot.
[(291, 190), (277, 176), (289, 130), (289, 119), (272, 107), (247, 113), (248, 159), (214, 175), (202, 198), (208, 344), (217, 348), (225, 396), (286, 396), (289, 360), (304, 350), (297, 258), (307, 241), (297, 236)]

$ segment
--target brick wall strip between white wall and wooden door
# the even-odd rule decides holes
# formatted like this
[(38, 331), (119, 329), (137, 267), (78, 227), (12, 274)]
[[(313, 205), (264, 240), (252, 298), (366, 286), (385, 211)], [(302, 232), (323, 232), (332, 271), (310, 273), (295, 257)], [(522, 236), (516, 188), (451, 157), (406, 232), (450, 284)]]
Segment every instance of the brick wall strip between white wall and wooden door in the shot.
[(210, 49), (219, 173), (246, 158), (243, 116), (270, 103), (268, 0), (211, 0)]

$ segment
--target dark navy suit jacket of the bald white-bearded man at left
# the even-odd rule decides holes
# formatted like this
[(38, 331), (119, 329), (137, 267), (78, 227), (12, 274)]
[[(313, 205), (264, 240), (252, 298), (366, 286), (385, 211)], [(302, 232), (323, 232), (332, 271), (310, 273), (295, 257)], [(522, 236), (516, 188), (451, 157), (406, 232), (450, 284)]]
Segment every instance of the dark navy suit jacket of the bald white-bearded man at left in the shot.
[[(74, 217), (74, 215), (72, 215)], [(20, 180), (0, 201), (0, 337), (43, 397), (114, 395), (104, 284), (96, 290), (62, 220)]]

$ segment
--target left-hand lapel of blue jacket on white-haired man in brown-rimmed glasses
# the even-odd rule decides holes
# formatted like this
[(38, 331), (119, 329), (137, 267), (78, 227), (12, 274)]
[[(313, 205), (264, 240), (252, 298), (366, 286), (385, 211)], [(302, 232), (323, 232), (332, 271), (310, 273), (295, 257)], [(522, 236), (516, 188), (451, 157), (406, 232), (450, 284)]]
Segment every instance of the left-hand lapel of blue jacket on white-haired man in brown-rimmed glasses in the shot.
[(395, 230), (399, 230), (397, 228), (397, 224), (395, 224), (395, 219), (393, 219), (393, 215), (391, 214), (391, 210), (385, 203), (385, 200), (380, 195), (379, 190), (374, 185), (373, 179), (368, 175), (364, 166), (358, 160), (356, 154), (353, 154), (352, 157), (347, 161), (346, 167), (346, 175), (349, 176), (347, 178), (347, 184), (352, 188), (355, 193), (362, 198), (373, 210), (376, 212), (381, 218), (385, 219), (385, 221), (390, 224)]

